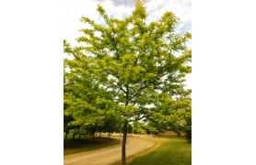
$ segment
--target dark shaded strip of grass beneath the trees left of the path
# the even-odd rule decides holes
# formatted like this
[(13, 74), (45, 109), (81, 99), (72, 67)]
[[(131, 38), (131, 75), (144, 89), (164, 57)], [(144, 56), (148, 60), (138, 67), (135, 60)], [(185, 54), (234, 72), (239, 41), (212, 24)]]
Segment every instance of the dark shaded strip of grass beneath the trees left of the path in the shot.
[(98, 148), (104, 148), (120, 143), (120, 140), (109, 137), (95, 137), (95, 140), (92, 143), (90, 142), (90, 137), (85, 136), (82, 136), (81, 139), (78, 139), (76, 137), (74, 143), (72, 143), (71, 137), (68, 136), (67, 139), (67, 144), (64, 144), (64, 155)]

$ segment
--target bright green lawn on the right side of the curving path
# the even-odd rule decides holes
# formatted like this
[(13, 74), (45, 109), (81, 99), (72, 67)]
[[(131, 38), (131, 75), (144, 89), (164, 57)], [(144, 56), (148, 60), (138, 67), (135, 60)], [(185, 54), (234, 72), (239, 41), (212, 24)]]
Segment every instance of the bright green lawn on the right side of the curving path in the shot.
[(129, 165), (191, 165), (192, 144), (189, 144), (184, 137), (169, 137), (154, 150), (143, 156), (134, 158)]

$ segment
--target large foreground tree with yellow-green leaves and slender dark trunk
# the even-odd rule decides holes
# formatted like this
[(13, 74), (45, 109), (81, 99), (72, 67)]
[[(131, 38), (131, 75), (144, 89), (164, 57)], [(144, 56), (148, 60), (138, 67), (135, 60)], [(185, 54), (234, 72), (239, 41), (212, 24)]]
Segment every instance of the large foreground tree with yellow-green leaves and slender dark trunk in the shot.
[(157, 21), (147, 22), (145, 2), (136, 0), (134, 5), (133, 13), (122, 20), (109, 17), (98, 6), (104, 24), (81, 17), (87, 28), (77, 38), (84, 56), (80, 60), (89, 59), (85, 70), (90, 82), (108, 93), (99, 96), (102, 104), (111, 104), (105, 112), (122, 119), (122, 164), (126, 164), (128, 123), (150, 115), (160, 120), (161, 112), (154, 107), (157, 98), (163, 93), (179, 95), (191, 72), (192, 51), (186, 47), (191, 34), (175, 32), (178, 18), (166, 12)]

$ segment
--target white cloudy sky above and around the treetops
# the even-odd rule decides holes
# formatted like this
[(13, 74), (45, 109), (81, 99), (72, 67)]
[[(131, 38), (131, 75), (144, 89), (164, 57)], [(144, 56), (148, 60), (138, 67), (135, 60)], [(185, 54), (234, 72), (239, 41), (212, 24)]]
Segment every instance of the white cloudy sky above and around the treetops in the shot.
[[(65, 0), (64, 1), (64, 38), (72, 45), (82, 34), (78, 31), (85, 25), (79, 21), (86, 16), (100, 21), (97, 5), (105, 8), (111, 17), (123, 18), (134, 10), (134, 0)], [(157, 20), (166, 11), (171, 11), (180, 18), (177, 31), (181, 34), (192, 31), (192, 0), (146, 0), (148, 21)], [(188, 76), (188, 87), (191, 88), (191, 75)]]

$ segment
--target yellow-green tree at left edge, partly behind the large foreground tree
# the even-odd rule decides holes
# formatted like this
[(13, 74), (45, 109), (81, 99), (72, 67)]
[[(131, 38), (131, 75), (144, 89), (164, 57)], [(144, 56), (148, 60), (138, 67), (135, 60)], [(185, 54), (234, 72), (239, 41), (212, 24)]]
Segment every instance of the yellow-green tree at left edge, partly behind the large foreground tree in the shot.
[(90, 133), (93, 141), (95, 132), (109, 117), (105, 110), (110, 104), (104, 100), (108, 93), (93, 81), (87, 71), (89, 59), (82, 54), (81, 48), (71, 48), (64, 40), (64, 53), (74, 57), (64, 60), (64, 116), (73, 119), (67, 127), (82, 127)]

